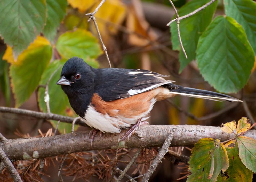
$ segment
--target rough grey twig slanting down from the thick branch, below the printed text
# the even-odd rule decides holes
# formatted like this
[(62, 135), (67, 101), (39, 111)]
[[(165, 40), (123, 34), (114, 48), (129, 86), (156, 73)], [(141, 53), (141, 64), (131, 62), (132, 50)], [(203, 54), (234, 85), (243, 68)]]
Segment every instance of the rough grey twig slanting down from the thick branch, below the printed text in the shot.
[(147, 173), (145, 174), (145, 176), (142, 178), (142, 182), (146, 182), (149, 180), (149, 178), (152, 176), (152, 174), (154, 173), (154, 171), (156, 170), (156, 167), (160, 164), (160, 162), (162, 161), (164, 155), (166, 154), (166, 152), (168, 151), (168, 148), (172, 142), (173, 139), (173, 133), (171, 133), (166, 140), (164, 141), (164, 144), (162, 146), (162, 148), (160, 149), (160, 151), (158, 152), (155, 160), (153, 160), (152, 164), (150, 165)]

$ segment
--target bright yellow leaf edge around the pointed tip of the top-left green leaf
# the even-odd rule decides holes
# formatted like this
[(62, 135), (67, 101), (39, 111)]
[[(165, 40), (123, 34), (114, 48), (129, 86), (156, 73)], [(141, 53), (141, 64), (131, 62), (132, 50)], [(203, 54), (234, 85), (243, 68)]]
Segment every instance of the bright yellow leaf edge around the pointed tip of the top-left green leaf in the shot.
[(17, 60), (14, 60), (13, 54), (12, 54), (12, 48), (8, 45), (7, 49), (5, 50), (3, 60), (6, 60), (8, 63), (11, 63), (13, 65), (20, 65), (22, 61), (24, 60), (25, 56), (28, 52), (33, 51), (35, 48), (50, 45), (50, 42), (45, 38), (41, 36), (37, 36), (34, 42), (32, 42), (26, 50), (24, 50), (17, 58)]

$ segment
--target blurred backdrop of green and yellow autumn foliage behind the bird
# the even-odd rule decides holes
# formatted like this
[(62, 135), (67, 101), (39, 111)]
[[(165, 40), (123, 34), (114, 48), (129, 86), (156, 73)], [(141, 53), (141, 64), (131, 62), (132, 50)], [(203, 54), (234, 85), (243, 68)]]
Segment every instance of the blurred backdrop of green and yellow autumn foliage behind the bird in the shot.
[[(45, 85), (49, 83), (52, 113), (75, 117), (59, 85), (63, 64), (73, 56), (81, 57), (94, 68), (108, 67), (92, 21), (99, 0), (1, 0), (0, 1), (0, 105), (47, 112)], [(209, 0), (175, 0), (179, 15), (186, 15)], [(177, 24), (166, 24), (174, 17), (168, 0), (106, 0), (95, 17), (113, 67), (141, 68), (171, 75), (177, 84), (233, 95), (244, 99), (256, 115), (256, 3), (252, 0), (216, 1), (195, 15), (180, 21), (180, 32), (188, 59), (177, 36)], [(171, 31), (170, 31), (171, 30)], [(207, 81), (207, 82), (206, 82)], [(212, 87), (211, 87), (212, 86)], [(230, 109), (227, 102), (175, 97), (172, 104), (156, 103), (151, 124), (221, 123), (246, 116), (242, 105)], [(178, 109), (177, 109), (178, 107)], [(216, 117), (197, 118), (221, 111)], [(22, 121), (22, 122), (20, 122)], [(56, 121), (50, 122), (55, 126)], [(0, 113), (0, 132), (38, 134), (47, 131), (49, 122), (14, 114)], [(60, 133), (70, 132), (60, 123)], [(84, 130), (80, 127), (79, 130)], [(166, 162), (164, 162), (166, 163)], [(158, 169), (154, 179), (164, 174), (174, 180), (179, 169)]]

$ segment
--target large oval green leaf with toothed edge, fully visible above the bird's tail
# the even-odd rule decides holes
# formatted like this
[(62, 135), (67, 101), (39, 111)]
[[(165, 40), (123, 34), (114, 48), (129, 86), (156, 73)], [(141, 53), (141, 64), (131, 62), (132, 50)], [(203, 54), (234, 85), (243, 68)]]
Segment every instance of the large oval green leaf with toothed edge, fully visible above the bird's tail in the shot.
[(243, 27), (223, 16), (216, 17), (200, 37), (196, 57), (204, 79), (224, 93), (244, 87), (255, 61)]

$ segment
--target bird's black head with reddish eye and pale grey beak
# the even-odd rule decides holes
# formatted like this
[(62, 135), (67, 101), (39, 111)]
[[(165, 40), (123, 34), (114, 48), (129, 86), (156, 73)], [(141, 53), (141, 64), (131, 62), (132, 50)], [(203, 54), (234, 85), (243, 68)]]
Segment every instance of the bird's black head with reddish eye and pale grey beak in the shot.
[(78, 57), (70, 58), (63, 66), (61, 78), (56, 84), (61, 85), (68, 97), (88, 94), (94, 91), (95, 69)]

